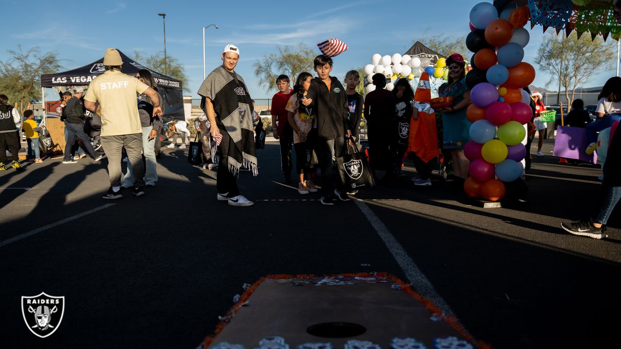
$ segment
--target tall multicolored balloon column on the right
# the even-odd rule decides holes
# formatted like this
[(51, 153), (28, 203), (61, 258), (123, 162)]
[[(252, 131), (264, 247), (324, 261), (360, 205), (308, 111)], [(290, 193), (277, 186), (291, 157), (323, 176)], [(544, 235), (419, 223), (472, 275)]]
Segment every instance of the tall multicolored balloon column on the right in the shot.
[[(535, 79), (532, 65), (522, 62), (528, 31), (499, 19), (494, 5), (476, 4), (470, 11), (471, 32), (466, 46), (474, 52), (473, 70), (466, 75), (472, 105), (466, 114), (473, 122), (464, 154), (471, 161), (464, 184), (468, 196), (497, 201), (505, 186), (520, 181), (524, 124), (531, 117), (522, 88)], [(494, 178), (495, 177), (495, 178)]]

